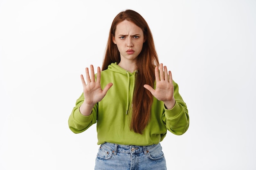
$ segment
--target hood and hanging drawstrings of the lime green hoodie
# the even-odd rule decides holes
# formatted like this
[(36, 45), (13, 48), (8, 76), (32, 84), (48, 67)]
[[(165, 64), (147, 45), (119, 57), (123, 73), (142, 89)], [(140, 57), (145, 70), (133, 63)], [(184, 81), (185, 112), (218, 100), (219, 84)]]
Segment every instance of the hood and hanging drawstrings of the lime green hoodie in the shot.
[[(133, 78), (133, 83), (132, 83), (132, 95), (134, 93), (134, 88), (135, 88), (135, 80), (136, 80), (136, 74), (138, 73), (137, 70), (135, 70), (133, 73), (130, 73), (129, 71), (125, 70), (124, 68), (121, 68), (119, 65), (117, 65), (117, 62), (112, 63), (108, 66), (108, 70), (109, 71), (113, 71), (116, 73), (120, 73), (123, 74), (124, 76), (127, 77), (127, 87), (126, 87), (126, 91), (127, 91), (127, 97), (126, 97), (126, 115), (128, 114), (128, 110), (130, 107), (130, 102), (129, 102), (129, 98), (130, 98), (130, 78)], [(131, 96), (132, 97), (132, 96)], [(132, 102), (131, 102), (132, 103)], [(132, 104), (131, 104), (132, 105)]]

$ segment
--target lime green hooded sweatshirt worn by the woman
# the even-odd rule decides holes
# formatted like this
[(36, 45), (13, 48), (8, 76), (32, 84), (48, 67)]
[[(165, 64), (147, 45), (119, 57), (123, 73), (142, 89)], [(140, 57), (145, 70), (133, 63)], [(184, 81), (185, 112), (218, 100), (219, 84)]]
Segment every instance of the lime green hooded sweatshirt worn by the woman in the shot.
[(146, 146), (158, 144), (166, 136), (167, 130), (175, 135), (182, 135), (189, 128), (189, 115), (178, 85), (173, 82), (175, 106), (166, 109), (164, 102), (153, 97), (151, 116), (143, 134), (130, 130), (132, 96), (137, 71), (130, 73), (117, 63), (112, 63), (107, 70), (101, 71), (101, 87), (108, 83), (113, 86), (106, 96), (95, 104), (91, 115), (83, 116), (79, 107), (84, 101), (83, 94), (76, 100), (68, 124), (74, 133), (80, 133), (97, 123), (98, 143), (110, 142), (122, 145)]

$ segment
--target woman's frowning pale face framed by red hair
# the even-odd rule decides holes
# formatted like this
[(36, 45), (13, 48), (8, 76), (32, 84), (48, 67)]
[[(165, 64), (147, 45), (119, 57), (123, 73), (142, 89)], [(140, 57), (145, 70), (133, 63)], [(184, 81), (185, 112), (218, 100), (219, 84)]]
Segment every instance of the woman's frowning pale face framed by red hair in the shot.
[(117, 44), (121, 61), (134, 61), (141, 52), (144, 40), (142, 29), (133, 22), (124, 20), (117, 24), (113, 42)]

